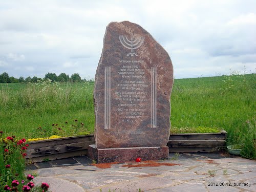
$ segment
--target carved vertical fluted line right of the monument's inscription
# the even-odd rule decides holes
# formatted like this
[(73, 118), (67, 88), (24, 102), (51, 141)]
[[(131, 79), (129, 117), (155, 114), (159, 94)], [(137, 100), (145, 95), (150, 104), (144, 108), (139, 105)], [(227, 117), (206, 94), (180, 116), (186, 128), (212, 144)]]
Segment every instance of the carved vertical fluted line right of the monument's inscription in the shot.
[(157, 127), (157, 68), (151, 68), (151, 127)]

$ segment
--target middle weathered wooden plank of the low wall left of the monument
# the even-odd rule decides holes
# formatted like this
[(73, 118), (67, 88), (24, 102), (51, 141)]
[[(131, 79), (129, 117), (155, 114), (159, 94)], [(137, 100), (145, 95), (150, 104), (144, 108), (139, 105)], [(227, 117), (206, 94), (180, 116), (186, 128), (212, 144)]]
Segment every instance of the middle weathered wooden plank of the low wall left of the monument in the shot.
[(89, 145), (94, 144), (95, 141), (84, 141), (79, 143), (69, 143), (62, 144), (56, 146), (48, 146), (48, 147), (39, 147), (33, 148), (26, 151), (27, 158), (39, 157), (39, 156), (47, 156), (61, 153), (68, 153), (73, 151), (87, 150)]

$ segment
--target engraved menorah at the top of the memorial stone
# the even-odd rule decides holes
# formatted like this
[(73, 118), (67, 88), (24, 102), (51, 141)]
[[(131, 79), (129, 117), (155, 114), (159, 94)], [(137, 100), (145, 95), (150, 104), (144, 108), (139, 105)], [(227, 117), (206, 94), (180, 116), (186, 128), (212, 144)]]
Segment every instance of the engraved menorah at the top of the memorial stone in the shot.
[(127, 38), (126, 35), (119, 35), (119, 40), (121, 42), (121, 44), (123, 45), (123, 47), (127, 48), (127, 49), (131, 49), (131, 53), (128, 53), (127, 56), (131, 55), (131, 56), (138, 56), (134, 50), (139, 48), (143, 42), (144, 42), (145, 37), (141, 37), (141, 36), (136, 36), (134, 38), (134, 36), (131, 35), (131, 40)]

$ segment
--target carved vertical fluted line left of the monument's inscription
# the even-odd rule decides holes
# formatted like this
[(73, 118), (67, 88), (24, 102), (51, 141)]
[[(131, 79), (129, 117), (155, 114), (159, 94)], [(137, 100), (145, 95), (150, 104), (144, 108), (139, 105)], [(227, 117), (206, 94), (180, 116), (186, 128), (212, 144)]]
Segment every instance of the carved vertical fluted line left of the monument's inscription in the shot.
[(104, 129), (110, 129), (111, 119), (111, 67), (105, 67)]

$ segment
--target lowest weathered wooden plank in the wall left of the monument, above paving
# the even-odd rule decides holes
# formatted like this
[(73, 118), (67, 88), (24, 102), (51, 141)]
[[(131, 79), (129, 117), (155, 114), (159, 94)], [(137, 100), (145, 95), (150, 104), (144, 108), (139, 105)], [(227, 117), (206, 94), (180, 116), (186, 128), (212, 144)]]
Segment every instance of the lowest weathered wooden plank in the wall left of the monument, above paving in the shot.
[(37, 162), (44, 161), (44, 159), (48, 159), (51, 161), (51, 160), (64, 159), (64, 158), (75, 157), (75, 156), (80, 156), (80, 155), (87, 155), (87, 150), (80, 150), (80, 151), (75, 151), (75, 152), (68, 152), (68, 153), (28, 158), (28, 159), (26, 159), (26, 162), (27, 163), (37, 163)]

